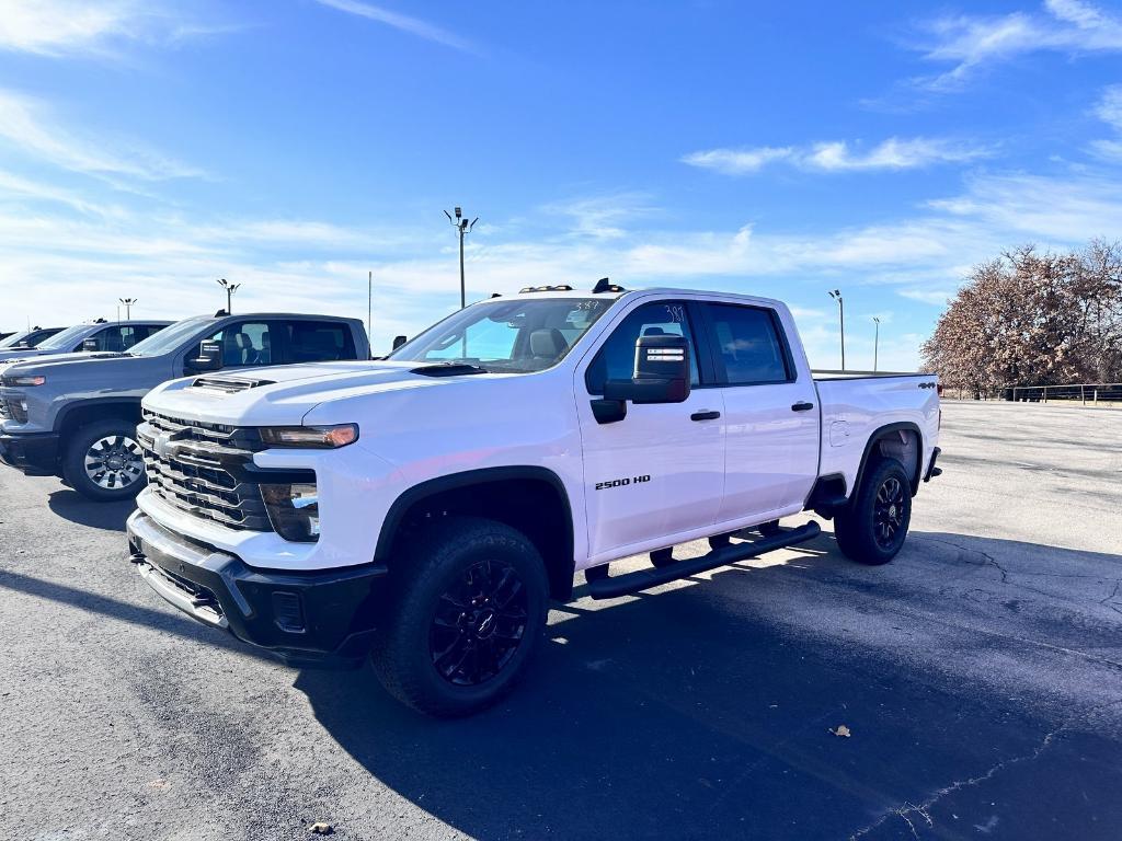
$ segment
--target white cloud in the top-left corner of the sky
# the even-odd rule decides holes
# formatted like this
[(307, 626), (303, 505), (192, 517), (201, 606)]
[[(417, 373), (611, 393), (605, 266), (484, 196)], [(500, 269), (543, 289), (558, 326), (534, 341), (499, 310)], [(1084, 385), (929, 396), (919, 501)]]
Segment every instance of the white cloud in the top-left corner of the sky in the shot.
[(188, 19), (162, 0), (6, 0), (0, 50), (107, 56), (125, 41), (175, 43), (228, 29)]

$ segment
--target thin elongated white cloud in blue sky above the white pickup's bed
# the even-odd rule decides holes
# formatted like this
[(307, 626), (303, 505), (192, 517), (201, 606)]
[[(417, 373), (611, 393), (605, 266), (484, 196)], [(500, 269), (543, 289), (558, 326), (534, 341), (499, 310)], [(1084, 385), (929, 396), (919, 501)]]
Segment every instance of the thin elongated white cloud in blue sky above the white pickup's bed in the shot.
[(938, 138), (889, 138), (870, 149), (844, 140), (818, 142), (806, 147), (764, 146), (749, 149), (709, 149), (682, 158), (690, 166), (714, 169), (725, 175), (749, 175), (773, 163), (788, 163), (800, 169), (846, 172), (861, 169), (916, 169), (934, 164), (974, 160), (990, 155), (980, 146)]

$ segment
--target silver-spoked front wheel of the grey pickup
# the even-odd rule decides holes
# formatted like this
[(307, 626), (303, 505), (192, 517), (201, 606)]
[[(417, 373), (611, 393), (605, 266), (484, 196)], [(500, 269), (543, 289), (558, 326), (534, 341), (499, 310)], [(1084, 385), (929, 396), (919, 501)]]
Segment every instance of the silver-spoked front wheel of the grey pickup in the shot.
[(136, 434), (136, 425), (128, 420), (95, 420), (80, 427), (63, 455), (64, 479), (96, 502), (135, 497), (145, 486)]

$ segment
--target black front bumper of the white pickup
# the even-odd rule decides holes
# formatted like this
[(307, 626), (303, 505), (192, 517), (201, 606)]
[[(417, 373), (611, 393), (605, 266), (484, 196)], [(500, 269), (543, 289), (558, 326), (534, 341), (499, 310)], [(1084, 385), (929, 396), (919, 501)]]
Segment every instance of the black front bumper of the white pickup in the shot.
[(130, 560), (164, 600), (204, 625), (295, 666), (356, 666), (366, 657), (386, 567), (256, 570), (144, 511), (128, 520)]

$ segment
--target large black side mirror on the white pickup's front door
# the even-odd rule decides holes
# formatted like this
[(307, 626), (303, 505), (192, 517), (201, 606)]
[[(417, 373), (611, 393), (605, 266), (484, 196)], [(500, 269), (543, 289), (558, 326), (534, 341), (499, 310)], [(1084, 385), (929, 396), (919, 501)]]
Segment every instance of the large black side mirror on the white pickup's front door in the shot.
[(636, 405), (682, 403), (690, 396), (689, 343), (680, 335), (643, 335), (635, 341), (635, 369), (629, 380), (608, 380), (604, 398), (592, 400), (592, 415), (601, 424), (627, 416), (627, 401)]

